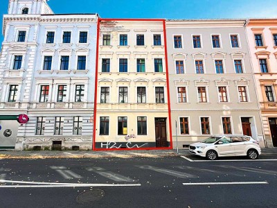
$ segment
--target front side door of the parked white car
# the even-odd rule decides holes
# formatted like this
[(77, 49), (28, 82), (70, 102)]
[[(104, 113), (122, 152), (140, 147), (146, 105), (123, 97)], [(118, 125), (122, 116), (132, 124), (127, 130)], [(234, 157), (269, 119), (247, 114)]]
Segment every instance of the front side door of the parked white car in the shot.
[[(220, 144), (222, 141), (222, 144)], [(224, 137), (217, 141), (215, 144), (215, 149), (220, 157), (235, 156), (234, 148), (232, 146), (232, 141), (230, 138)]]

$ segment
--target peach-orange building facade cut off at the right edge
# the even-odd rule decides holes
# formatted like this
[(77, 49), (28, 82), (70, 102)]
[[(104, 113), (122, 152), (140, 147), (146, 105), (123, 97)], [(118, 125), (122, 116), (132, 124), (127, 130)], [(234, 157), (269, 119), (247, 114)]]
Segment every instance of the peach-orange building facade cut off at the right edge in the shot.
[(249, 19), (247, 37), (265, 142), (277, 147), (277, 19)]

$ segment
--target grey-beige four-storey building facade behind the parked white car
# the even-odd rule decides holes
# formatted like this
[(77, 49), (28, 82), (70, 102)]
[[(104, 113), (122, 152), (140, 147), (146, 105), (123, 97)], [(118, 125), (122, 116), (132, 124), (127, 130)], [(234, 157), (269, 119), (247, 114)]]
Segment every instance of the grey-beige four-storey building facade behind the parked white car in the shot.
[(245, 20), (168, 20), (174, 147), (211, 135), (251, 135), (264, 146)]

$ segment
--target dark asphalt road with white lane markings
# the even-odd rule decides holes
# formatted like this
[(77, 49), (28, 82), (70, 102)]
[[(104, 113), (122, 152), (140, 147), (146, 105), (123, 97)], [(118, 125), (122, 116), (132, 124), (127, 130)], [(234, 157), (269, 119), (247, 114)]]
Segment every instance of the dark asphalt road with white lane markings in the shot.
[(277, 207), (277, 161), (234, 159), (1, 159), (0, 207)]

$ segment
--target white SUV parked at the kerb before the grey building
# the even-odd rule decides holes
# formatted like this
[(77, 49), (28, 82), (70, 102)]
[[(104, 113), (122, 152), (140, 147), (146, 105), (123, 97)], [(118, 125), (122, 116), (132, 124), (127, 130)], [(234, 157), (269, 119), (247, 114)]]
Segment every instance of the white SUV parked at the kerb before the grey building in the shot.
[(257, 159), (261, 153), (258, 141), (242, 135), (208, 137), (202, 142), (190, 144), (189, 151), (211, 160), (229, 156), (247, 156), (249, 159)]

